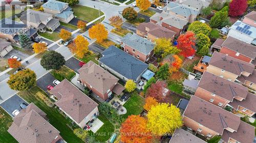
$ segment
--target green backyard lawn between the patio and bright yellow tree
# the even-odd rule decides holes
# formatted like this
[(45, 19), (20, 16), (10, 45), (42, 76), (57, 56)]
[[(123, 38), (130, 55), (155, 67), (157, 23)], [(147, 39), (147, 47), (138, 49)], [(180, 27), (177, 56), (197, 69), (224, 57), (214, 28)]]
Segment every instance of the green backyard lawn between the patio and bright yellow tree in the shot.
[(145, 99), (139, 96), (136, 91), (130, 94), (131, 98), (123, 105), (127, 110), (127, 113), (125, 113), (125, 115), (121, 115), (123, 119), (126, 119), (130, 115), (139, 115), (143, 110)]

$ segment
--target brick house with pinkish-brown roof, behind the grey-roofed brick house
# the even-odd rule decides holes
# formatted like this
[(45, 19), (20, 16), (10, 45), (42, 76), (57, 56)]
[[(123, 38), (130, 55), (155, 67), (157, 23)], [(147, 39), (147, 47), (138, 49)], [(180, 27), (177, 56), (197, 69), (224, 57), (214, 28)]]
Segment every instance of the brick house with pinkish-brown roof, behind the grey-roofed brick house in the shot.
[(158, 38), (169, 38), (173, 41), (176, 32), (168, 30), (167, 28), (152, 22), (143, 22), (138, 25), (136, 34), (146, 38), (147, 40), (155, 42)]

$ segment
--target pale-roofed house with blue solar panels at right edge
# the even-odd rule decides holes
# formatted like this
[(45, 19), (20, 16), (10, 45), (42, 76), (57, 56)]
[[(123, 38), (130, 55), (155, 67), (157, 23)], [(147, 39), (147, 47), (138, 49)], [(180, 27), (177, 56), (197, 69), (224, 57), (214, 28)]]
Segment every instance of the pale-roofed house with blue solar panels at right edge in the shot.
[(227, 36), (256, 45), (256, 28), (240, 20), (230, 27)]

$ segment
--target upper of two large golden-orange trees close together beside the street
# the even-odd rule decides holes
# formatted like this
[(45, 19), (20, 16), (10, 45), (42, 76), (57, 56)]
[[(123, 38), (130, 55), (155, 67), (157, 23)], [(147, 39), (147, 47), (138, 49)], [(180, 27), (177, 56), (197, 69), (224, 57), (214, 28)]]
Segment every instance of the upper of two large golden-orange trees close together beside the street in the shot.
[(89, 36), (90, 38), (96, 39), (97, 42), (101, 43), (103, 40), (108, 38), (108, 31), (106, 31), (103, 24), (98, 23), (89, 29)]

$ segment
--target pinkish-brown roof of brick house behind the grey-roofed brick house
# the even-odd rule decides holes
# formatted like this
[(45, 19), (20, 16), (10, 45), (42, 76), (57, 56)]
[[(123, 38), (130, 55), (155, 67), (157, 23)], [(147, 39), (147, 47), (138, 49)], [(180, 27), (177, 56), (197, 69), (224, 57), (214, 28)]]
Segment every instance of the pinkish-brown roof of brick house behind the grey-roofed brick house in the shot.
[[(149, 29), (148, 32), (146, 31), (146, 27)], [(176, 32), (168, 30), (167, 28), (152, 22), (140, 23), (137, 27), (137, 30), (144, 33), (149, 33), (157, 38), (172, 38), (176, 34)]]

